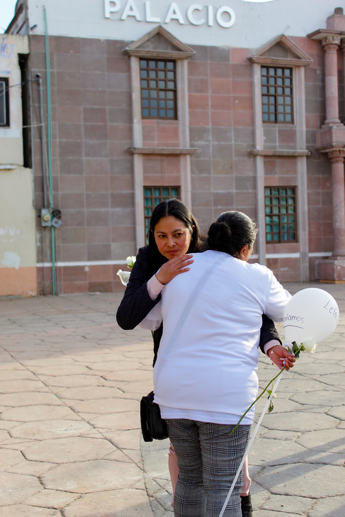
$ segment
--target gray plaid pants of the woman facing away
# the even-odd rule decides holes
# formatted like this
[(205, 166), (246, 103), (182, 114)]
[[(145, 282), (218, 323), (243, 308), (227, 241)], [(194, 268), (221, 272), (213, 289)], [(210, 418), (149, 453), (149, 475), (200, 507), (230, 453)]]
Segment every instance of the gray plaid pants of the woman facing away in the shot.
[[(219, 517), (246, 450), (250, 425), (166, 419), (179, 469), (174, 495), (175, 517)], [(242, 517), (242, 473), (224, 517)]]

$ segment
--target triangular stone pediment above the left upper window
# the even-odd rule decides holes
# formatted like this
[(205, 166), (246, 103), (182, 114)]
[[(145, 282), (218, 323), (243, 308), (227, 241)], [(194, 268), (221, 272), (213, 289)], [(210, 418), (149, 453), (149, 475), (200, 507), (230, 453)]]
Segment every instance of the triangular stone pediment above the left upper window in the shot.
[(137, 41), (133, 41), (126, 54), (131, 56), (168, 57), (174, 59), (186, 59), (195, 54), (186, 43), (175, 38), (162, 26), (155, 27)]

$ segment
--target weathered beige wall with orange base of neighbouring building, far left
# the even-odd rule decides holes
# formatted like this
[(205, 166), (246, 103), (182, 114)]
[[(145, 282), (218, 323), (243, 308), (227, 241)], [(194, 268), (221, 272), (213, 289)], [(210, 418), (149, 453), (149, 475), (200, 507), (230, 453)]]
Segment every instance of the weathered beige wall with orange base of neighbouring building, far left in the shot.
[(9, 79), (10, 127), (0, 128), (0, 296), (37, 295), (32, 170), (23, 165), (21, 74), (26, 36), (0, 36), (0, 77)]

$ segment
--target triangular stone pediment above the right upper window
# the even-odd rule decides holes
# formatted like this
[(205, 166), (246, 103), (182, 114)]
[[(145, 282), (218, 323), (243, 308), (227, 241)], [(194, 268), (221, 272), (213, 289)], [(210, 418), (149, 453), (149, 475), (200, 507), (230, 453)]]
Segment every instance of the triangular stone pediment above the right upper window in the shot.
[(306, 66), (312, 63), (311, 57), (283, 34), (268, 41), (256, 52), (253, 52), (248, 59), (252, 63), (261, 65)]

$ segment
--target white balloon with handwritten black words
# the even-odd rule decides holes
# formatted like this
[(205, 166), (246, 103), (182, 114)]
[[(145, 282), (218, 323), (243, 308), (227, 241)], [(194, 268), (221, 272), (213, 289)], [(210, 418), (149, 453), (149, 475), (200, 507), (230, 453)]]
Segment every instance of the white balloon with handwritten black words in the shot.
[(327, 291), (309, 287), (298, 291), (284, 311), (284, 334), (287, 341), (315, 340), (320, 343), (334, 332), (339, 320), (338, 304)]

